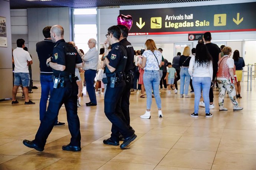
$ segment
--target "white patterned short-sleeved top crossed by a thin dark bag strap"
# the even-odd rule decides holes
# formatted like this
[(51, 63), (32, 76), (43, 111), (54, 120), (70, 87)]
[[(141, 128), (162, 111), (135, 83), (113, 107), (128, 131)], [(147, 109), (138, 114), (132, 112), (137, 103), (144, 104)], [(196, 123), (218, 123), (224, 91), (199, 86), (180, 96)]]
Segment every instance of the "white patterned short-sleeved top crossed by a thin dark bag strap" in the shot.
[(147, 58), (145, 70), (159, 70), (159, 64), (162, 61), (162, 54), (158, 50), (154, 50), (154, 54), (151, 50), (146, 50), (143, 52), (142, 56)]

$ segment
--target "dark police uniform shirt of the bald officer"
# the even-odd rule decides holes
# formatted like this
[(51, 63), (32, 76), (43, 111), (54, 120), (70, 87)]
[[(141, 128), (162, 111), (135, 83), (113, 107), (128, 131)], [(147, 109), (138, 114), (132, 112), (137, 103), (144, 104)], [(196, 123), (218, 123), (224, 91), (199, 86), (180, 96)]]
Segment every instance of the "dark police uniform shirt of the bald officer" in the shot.
[(52, 69), (55, 76), (60, 74), (63, 77), (70, 73), (75, 74), (76, 64), (80, 64), (83, 61), (76, 49), (62, 39), (57, 41), (53, 48), (52, 62), (66, 66), (64, 71)]

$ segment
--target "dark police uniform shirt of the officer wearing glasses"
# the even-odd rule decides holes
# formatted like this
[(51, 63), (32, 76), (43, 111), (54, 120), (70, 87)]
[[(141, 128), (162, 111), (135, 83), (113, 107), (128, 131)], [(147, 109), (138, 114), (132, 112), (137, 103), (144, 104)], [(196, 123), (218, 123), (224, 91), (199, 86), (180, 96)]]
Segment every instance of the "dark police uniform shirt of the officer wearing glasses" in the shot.
[(108, 67), (105, 67), (107, 77), (112, 77), (115, 73), (124, 72), (127, 63), (127, 52), (119, 42), (111, 45), (111, 51), (109, 51), (107, 58), (109, 65), (115, 68), (114, 72), (110, 72)]

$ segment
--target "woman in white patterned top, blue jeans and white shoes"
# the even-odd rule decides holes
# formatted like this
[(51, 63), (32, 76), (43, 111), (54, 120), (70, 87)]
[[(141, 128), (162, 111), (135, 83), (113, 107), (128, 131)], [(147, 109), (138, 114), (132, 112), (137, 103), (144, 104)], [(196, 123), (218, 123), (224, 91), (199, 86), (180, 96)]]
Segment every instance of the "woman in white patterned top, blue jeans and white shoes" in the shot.
[(161, 110), (161, 98), (159, 93), (159, 67), (161, 67), (161, 52), (157, 50), (154, 40), (148, 39), (145, 43), (147, 50), (142, 54), (142, 64), (144, 68), (143, 82), (147, 94), (147, 110), (144, 115), (141, 115), (142, 119), (150, 119), (150, 109), (152, 103), (152, 89), (155, 96), (155, 101), (158, 107), (158, 116), (163, 117)]

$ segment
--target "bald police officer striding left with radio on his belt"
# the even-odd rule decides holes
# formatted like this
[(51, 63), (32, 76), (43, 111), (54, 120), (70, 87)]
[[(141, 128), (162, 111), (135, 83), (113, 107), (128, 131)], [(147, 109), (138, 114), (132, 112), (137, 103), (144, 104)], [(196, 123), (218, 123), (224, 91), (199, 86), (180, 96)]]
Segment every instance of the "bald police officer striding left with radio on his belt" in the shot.
[(64, 30), (62, 26), (55, 25), (50, 29), (53, 42), (52, 57), (46, 60), (46, 64), (53, 69), (54, 88), (49, 99), (46, 114), (40, 123), (34, 140), (23, 140), (27, 147), (43, 151), (46, 139), (53, 129), (58, 117), (59, 109), (65, 104), (71, 140), (68, 145), (62, 146), (63, 150), (80, 151), (81, 134), (80, 123), (77, 115), (78, 86), (75, 81), (75, 67), (82, 67), (83, 62), (75, 48), (63, 39)]

